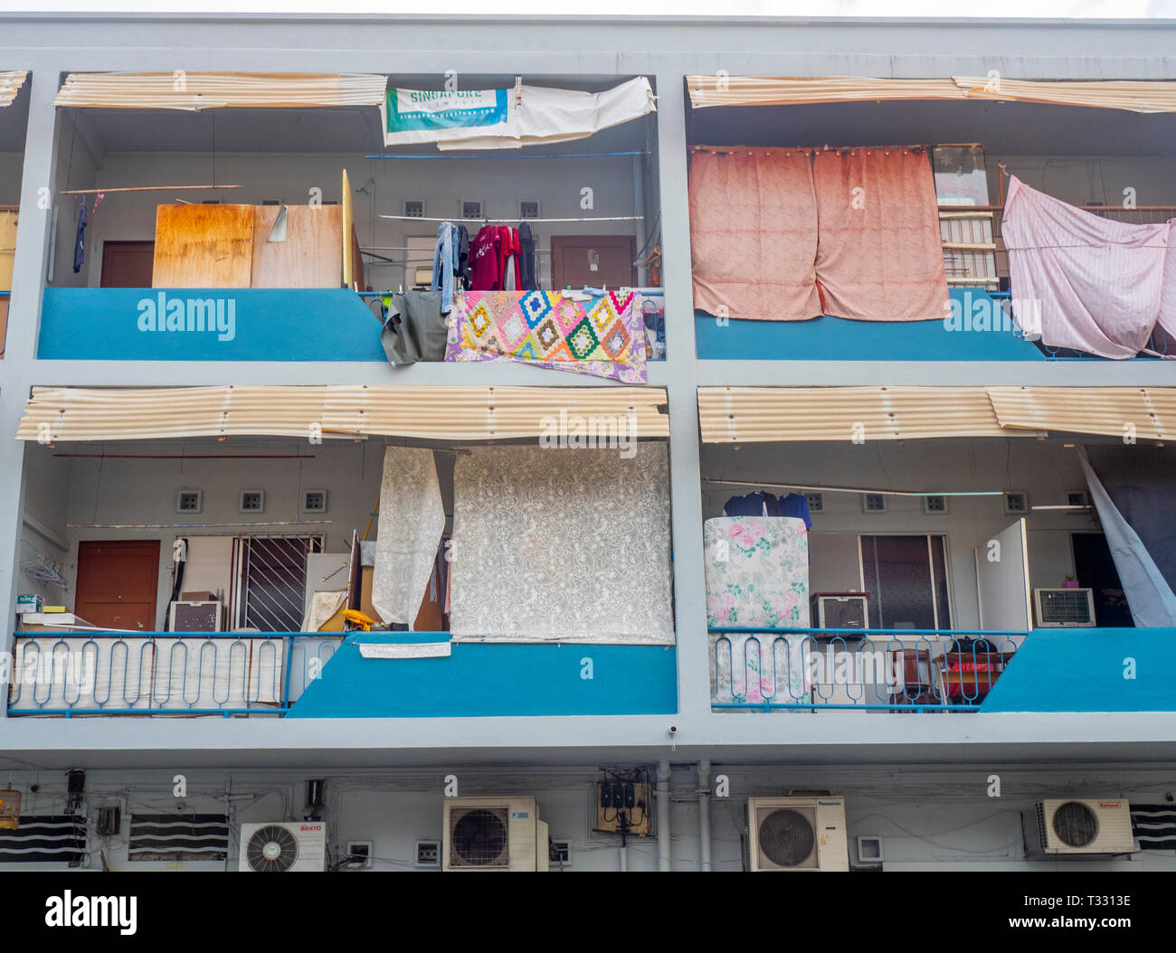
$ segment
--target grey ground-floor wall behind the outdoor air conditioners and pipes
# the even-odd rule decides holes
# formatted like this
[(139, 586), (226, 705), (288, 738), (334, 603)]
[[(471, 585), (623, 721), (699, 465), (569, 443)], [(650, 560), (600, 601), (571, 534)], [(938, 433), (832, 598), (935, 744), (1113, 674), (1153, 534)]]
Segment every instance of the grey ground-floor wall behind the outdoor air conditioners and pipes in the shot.
[[(787, 718), (787, 716), (781, 716)], [(897, 716), (878, 716), (897, 717)], [(976, 716), (982, 717), (982, 716)], [(167, 870), (166, 861), (127, 861), (129, 816), (140, 813), (216, 813), (230, 793), (230, 855), (227, 861), (185, 864), (199, 870), (235, 871), (239, 827), (249, 821), (293, 820), (305, 804), (305, 781), (325, 777), (326, 811), (333, 853), (348, 840), (373, 841), (373, 870), (414, 870), (417, 840), (442, 837), (442, 786), (456, 774), (459, 793), (534, 794), (540, 816), (554, 840), (570, 841), (572, 871), (615, 871), (620, 839), (595, 833), (595, 783), (590, 767), (548, 770), (439, 767), (397, 773), (315, 774), (194, 772), (182, 765), (168, 771), (91, 771), (86, 778), (91, 824), (98, 808), (122, 807), (119, 837), (91, 834), (88, 868), (100, 870), (99, 851), (114, 870)], [(1176, 871), (1176, 851), (1136, 853), (1123, 858), (1041, 860), (1024, 857), (1021, 814), (1047, 797), (1125, 797), (1136, 804), (1164, 804), (1176, 791), (1171, 769), (1075, 765), (1067, 770), (993, 765), (968, 770), (908, 765), (789, 769), (716, 765), (715, 776), (729, 779), (729, 798), (711, 798), (711, 848), (716, 871), (742, 870), (742, 835), (748, 797), (781, 797), (789, 790), (828, 791), (846, 798), (849, 857), (857, 865), (858, 835), (882, 838), (884, 870), (987, 871)], [(1000, 777), (1001, 796), (990, 797), (991, 776)], [(186, 793), (173, 794), (178, 776)], [(38, 793), (28, 786), (40, 784)], [(13, 785), (24, 792), (24, 814), (61, 812), (65, 780), (60, 772), (16, 771)], [(675, 871), (700, 867), (697, 774), (693, 765), (674, 765), (670, 781), (670, 852)], [(93, 827), (92, 827), (93, 830)], [(656, 832), (655, 832), (656, 834)], [(33, 865), (0, 864), (0, 870)], [(45, 865), (41, 865), (45, 866)], [(62, 865), (64, 866), (64, 865)], [(657, 838), (630, 838), (632, 871), (657, 867)]]

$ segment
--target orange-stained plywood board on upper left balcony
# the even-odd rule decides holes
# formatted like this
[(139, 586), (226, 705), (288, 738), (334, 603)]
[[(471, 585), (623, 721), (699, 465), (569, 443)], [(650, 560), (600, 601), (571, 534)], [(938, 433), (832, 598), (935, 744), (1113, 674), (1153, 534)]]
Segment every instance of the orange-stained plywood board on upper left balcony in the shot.
[(159, 206), (153, 288), (248, 288), (253, 206)]

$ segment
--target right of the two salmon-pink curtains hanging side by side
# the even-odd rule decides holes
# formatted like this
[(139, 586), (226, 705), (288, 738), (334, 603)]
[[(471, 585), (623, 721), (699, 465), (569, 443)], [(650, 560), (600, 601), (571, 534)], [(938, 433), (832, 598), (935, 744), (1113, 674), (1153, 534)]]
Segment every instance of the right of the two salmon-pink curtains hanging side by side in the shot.
[(931, 163), (923, 152), (818, 152), (813, 165), (824, 314), (942, 320), (948, 301)]

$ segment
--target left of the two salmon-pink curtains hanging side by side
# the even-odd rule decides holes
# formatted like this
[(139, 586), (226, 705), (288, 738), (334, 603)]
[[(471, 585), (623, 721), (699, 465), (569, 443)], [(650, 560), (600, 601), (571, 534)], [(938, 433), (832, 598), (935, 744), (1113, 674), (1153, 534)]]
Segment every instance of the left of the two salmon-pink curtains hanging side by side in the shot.
[(691, 154), (695, 308), (757, 321), (816, 317), (816, 197), (807, 152)]

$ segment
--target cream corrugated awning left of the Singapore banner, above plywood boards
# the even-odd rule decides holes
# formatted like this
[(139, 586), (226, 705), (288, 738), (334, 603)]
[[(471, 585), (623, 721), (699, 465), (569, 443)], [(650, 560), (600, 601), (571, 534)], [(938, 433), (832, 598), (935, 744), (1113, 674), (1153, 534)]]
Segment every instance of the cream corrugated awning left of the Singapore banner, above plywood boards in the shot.
[(54, 106), (92, 109), (303, 108), (383, 105), (369, 73), (71, 73)]

